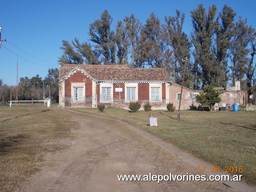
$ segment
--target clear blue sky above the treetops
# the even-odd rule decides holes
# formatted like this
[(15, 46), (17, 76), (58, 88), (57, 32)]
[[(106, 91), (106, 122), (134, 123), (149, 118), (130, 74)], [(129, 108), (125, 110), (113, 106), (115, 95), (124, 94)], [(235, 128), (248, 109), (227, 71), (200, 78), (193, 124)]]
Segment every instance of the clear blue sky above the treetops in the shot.
[(104, 10), (112, 16), (114, 29), (117, 20), (132, 13), (142, 24), (152, 12), (164, 23), (164, 16), (175, 16), (178, 9), (185, 13), (184, 31), (190, 35), (190, 11), (200, 3), (206, 10), (216, 4), (218, 13), (228, 4), (237, 16), (247, 18), (248, 25), (256, 28), (253, 0), (1, 0), (1, 40), (7, 42), (0, 49), (0, 79), (7, 85), (16, 85), (17, 59), (18, 80), (37, 74), (44, 78), (49, 68), (59, 68), (62, 40), (71, 42), (77, 37), (80, 42), (88, 41), (89, 24), (99, 19)]

